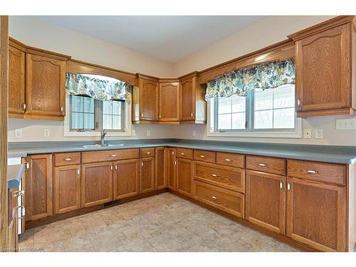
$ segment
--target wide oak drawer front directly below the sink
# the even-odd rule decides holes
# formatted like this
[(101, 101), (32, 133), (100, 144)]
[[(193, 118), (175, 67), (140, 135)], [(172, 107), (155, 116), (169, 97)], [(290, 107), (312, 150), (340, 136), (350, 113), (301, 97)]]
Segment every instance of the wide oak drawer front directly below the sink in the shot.
[(82, 152), (83, 163), (111, 162), (120, 159), (137, 159), (138, 157), (139, 157), (138, 149)]

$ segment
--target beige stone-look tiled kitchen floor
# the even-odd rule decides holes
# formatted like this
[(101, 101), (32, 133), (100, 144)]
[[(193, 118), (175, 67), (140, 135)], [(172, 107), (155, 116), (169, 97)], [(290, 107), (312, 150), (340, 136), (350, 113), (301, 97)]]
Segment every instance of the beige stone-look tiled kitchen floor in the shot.
[(298, 251), (164, 193), (27, 230), (22, 251)]

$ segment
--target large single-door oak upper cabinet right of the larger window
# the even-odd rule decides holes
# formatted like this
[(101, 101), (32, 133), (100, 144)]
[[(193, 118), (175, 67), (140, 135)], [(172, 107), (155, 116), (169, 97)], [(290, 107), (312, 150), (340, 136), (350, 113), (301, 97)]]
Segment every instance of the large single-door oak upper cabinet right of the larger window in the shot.
[(355, 114), (355, 27), (352, 21), (345, 23), (345, 18), (330, 21), (290, 36), (296, 41), (298, 117)]

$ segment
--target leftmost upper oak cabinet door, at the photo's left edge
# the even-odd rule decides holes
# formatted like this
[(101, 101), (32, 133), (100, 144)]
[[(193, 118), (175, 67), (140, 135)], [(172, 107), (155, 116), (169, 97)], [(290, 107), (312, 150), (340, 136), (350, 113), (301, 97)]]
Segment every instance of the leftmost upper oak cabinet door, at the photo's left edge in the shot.
[(9, 117), (21, 117), (25, 108), (25, 53), (9, 46)]

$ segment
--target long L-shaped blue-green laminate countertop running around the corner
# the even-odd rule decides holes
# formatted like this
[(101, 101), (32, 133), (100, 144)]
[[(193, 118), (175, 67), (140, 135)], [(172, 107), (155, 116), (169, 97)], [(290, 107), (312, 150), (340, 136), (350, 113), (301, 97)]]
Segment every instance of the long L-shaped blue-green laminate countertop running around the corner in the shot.
[(282, 157), (286, 159), (304, 159), (317, 162), (353, 164), (356, 162), (356, 147), (328, 145), (282, 145), (256, 142), (224, 142), (211, 140), (112, 140), (108, 144), (122, 144), (113, 147), (84, 148), (94, 142), (14, 142), (9, 143), (8, 157), (26, 157), (26, 155), (53, 152), (80, 152), (93, 150), (117, 150), (140, 147), (184, 147), (197, 150), (213, 150), (246, 155)]

